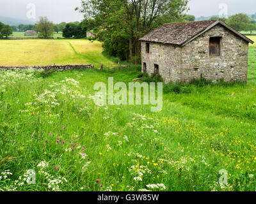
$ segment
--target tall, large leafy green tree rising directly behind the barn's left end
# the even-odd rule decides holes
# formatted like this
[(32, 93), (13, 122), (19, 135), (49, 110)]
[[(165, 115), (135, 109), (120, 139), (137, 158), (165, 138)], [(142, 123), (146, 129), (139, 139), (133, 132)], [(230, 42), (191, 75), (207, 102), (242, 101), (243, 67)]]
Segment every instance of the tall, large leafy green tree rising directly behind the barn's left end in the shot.
[(105, 47), (109, 53), (117, 55), (116, 45), (121, 43), (129, 47), (132, 61), (140, 54), (140, 37), (165, 22), (184, 20), (187, 4), (188, 0), (83, 0), (77, 10), (97, 22), (97, 37), (105, 45), (113, 45)]

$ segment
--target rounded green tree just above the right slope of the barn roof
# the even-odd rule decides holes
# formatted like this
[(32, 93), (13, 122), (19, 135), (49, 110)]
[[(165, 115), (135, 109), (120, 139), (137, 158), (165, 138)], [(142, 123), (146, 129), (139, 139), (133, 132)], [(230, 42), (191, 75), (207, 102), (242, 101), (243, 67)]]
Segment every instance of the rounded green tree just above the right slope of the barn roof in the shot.
[(227, 24), (237, 31), (250, 31), (251, 19), (247, 14), (237, 13), (228, 18)]

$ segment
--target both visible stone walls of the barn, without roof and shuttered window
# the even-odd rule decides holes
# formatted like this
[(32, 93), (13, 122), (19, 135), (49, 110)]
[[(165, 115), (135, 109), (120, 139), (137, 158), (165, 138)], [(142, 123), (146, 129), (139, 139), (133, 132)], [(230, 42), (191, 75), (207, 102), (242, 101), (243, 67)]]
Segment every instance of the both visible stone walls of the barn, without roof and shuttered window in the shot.
[[(220, 56), (209, 56), (210, 37), (221, 37)], [(147, 64), (147, 73), (154, 73), (154, 64), (159, 65), (159, 74), (164, 82), (190, 82), (204, 77), (213, 82), (223, 79), (246, 82), (248, 70), (248, 42), (222, 25), (212, 27), (184, 47), (150, 42), (146, 53), (146, 42), (141, 42), (141, 62)]]

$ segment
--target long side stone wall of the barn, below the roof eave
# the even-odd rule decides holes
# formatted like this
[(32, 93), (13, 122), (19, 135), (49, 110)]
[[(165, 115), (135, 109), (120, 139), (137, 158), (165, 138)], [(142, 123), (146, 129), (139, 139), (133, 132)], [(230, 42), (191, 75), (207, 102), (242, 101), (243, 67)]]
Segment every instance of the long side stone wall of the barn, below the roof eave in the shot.
[(159, 75), (164, 82), (180, 80), (180, 47), (151, 43), (149, 53), (146, 52), (146, 42), (141, 42), (141, 62), (146, 63), (148, 75), (154, 74), (154, 64), (159, 66)]

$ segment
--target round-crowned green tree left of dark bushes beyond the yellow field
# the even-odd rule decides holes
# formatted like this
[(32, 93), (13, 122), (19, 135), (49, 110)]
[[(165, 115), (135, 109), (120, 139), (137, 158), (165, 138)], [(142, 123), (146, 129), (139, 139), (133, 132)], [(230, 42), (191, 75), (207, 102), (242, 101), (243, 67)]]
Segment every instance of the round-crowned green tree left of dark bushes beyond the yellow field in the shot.
[(49, 38), (54, 32), (54, 24), (47, 17), (39, 17), (39, 22), (36, 24), (35, 30), (38, 32), (38, 36)]

